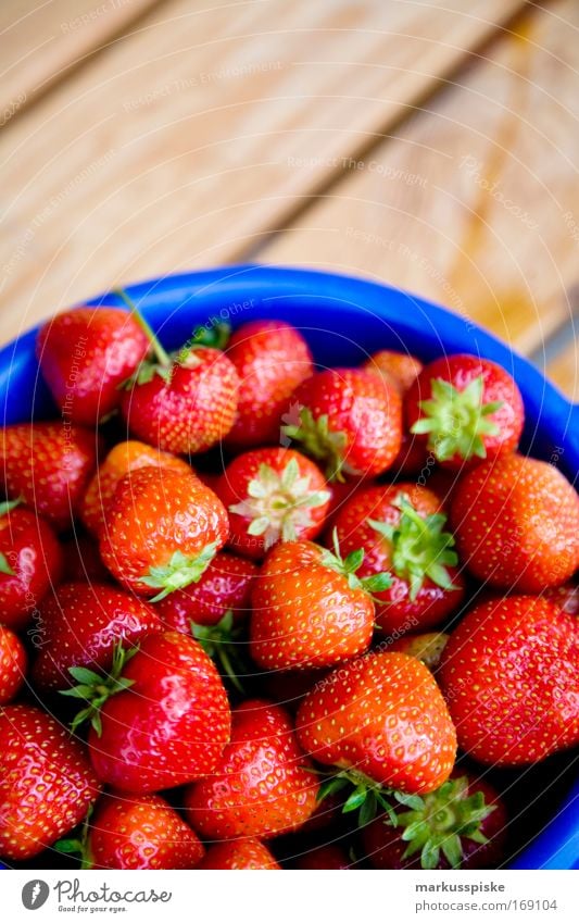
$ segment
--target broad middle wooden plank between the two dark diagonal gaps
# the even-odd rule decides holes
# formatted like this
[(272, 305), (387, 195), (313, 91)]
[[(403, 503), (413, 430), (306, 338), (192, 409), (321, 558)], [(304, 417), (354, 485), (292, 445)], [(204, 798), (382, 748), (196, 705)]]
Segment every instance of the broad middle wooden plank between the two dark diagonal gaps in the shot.
[(243, 258), (520, 0), (171, 0), (7, 128), (0, 339)]

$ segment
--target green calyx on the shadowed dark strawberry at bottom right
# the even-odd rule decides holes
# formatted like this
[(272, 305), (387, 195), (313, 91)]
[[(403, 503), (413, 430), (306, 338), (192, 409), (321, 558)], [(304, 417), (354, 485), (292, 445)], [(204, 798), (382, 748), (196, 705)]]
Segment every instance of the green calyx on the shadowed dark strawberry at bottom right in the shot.
[(496, 806), (487, 804), (480, 790), (469, 795), (468, 788), (466, 776), (450, 778), (436, 791), (413, 796), (412, 803), (406, 801), (408, 811), (397, 811), (393, 818), (388, 812), (385, 823), (399, 827), (401, 839), (408, 844), (403, 859), (419, 852), (423, 869), (436, 869), (442, 853), (452, 869), (460, 869), (463, 838), (480, 845), (488, 843), (481, 824)]

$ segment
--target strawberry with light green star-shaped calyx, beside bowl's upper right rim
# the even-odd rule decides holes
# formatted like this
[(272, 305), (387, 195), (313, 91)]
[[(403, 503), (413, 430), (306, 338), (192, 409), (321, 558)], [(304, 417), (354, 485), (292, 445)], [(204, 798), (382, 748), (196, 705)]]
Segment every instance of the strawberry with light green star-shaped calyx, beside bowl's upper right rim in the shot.
[(478, 356), (443, 356), (420, 372), (405, 397), (406, 421), (437, 461), (453, 469), (516, 449), (525, 409), (501, 365)]

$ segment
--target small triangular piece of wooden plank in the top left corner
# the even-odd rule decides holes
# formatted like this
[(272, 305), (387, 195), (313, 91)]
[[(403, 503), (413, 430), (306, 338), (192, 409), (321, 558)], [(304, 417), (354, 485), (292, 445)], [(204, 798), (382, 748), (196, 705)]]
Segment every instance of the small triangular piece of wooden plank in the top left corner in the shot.
[(2, 0), (0, 125), (159, 0)]

